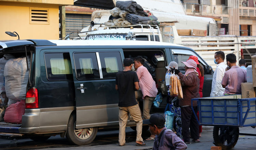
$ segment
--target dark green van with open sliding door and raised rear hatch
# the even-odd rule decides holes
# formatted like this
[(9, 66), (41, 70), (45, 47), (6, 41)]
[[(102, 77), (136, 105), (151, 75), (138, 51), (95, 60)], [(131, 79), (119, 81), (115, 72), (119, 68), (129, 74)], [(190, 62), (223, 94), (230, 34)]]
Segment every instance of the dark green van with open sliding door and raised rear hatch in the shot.
[[(0, 41), (5, 54), (30, 57), (26, 109), (22, 124), (0, 122), (1, 134), (47, 139), (60, 134), (76, 145), (89, 144), (97, 131), (118, 127), (115, 77), (122, 60), (142, 56), (156, 84), (165, 79), (170, 61), (184, 73), (190, 55), (204, 66), (203, 96), (210, 96), (213, 72), (193, 49), (151, 41), (16, 40)], [(159, 109), (163, 112), (166, 100)], [(136, 123), (128, 121), (127, 126)], [(39, 137), (41, 136), (41, 137)]]

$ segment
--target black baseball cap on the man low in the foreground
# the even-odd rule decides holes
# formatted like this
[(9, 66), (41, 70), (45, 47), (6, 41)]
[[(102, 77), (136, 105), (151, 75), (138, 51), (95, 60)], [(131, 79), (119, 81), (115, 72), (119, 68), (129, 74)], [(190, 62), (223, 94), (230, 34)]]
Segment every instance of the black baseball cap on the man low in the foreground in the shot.
[(153, 124), (159, 128), (165, 126), (165, 117), (160, 114), (153, 114), (151, 115), (150, 119), (143, 120), (143, 124)]

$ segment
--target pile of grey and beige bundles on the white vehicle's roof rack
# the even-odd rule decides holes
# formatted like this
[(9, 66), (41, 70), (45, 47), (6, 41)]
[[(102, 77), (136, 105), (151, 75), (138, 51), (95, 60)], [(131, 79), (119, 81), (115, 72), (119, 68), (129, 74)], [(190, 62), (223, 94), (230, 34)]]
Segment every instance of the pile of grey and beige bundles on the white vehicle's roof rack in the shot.
[(117, 1), (116, 7), (110, 11), (110, 14), (105, 26), (159, 25), (157, 17), (148, 16), (135, 1)]

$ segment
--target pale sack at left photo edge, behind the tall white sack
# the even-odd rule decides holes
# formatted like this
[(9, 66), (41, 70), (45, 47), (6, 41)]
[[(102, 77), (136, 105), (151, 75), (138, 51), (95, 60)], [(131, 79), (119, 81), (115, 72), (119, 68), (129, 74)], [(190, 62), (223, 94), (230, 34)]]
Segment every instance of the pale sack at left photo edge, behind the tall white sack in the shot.
[(3, 58), (0, 59), (0, 94), (2, 92), (5, 92), (5, 83), (4, 83), (4, 74), (3, 74), (4, 66), (5, 66), (5, 63), (11, 58), (14, 58), (14, 56), (10, 54), (6, 54), (4, 55)]

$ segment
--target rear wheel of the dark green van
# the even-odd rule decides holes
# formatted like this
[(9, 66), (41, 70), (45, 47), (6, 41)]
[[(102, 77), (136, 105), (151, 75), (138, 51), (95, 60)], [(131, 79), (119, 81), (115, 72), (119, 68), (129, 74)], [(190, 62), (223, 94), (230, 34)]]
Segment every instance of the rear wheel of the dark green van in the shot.
[(96, 137), (98, 128), (75, 128), (76, 116), (71, 115), (68, 122), (68, 129), (66, 137), (67, 139), (75, 145), (87, 145), (90, 144)]

